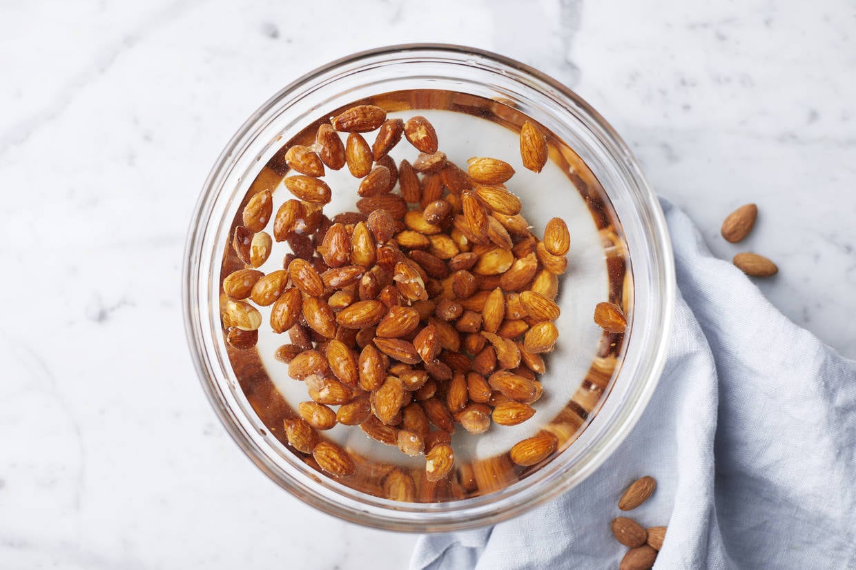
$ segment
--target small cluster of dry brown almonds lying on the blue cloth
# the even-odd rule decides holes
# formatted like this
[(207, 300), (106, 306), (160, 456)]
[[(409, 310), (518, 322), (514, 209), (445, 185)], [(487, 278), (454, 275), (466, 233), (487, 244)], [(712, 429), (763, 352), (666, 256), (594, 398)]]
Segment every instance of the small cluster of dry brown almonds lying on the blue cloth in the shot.
[[(645, 476), (633, 481), (619, 499), (618, 508), (622, 511), (630, 511), (639, 507), (648, 500), (655, 489), (657, 489), (657, 481), (652, 477)], [(615, 517), (612, 520), (612, 534), (615, 540), (629, 548), (621, 559), (621, 570), (645, 570), (654, 566), (657, 552), (663, 548), (666, 527), (651, 526), (646, 529), (633, 519)]]

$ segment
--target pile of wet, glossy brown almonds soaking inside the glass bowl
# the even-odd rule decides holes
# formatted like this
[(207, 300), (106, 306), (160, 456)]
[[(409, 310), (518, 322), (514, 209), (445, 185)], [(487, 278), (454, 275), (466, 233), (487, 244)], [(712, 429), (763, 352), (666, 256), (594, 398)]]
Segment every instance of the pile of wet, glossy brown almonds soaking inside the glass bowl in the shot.
[[(363, 134), (375, 130), (369, 145)], [(402, 138), (419, 156), (396, 166), (388, 153)], [(520, 156), (535, 172), (547, 161), (544, 134), (530, 122)], [(559, 218), (543, 240), (532, 234), (505, 186), (511, 165), (475, 157), (465, 172), (438, 151), (425, 117), (388, 119), (372, 105), (333, 117), (314, 145), (293, 145), (285, 159), (298, 173), (283, 179), (294, 199), (276, 215), (270, 191), (247, 202), (232, 243), (248, 267), (223, 280), (223, 324), (231, 346), (254, 347), (263, 320), (256, 306), (270, 306), (270, 329), (288, 332), (276, 359), (310, 397), (285, 420), (289, 444), (330, 476), (348, 477), (354, 459), (318, 432), (359, 425), (404, 454), (425, 454), (425, 478), (437, 481), (455, 461), (455, 425), (478, 434), (532, 418), (541, 355), (558, 338), (557, 279), (570, 235)], [(346, 166), (360, 180), (358, 211), (327, 217), (332, 191), (321, 178)], [(292, 252), (265, 275), (256, 268), (273, 240)], [(617, 333), (627, 326), (609, 303), (597, 306), (595, 322)], [(509, 455), (532, 466), (556, 443), (541, 431)]]

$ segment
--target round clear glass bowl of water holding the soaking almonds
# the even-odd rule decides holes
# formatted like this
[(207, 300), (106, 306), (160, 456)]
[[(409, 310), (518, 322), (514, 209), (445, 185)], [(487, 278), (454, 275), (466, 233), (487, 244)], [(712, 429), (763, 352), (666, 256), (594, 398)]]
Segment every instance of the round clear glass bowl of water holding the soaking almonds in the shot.
[[(572, 398), (569, 407), (555, 395), (552, 404), (550, 399), (543, 404), (552, 406), (542, 415), (554, 418), (550, 430), (560, 435), (560, 448), (537, 468), (518, 469), (513, 481), (443, 502), (392, 501), (328, 478), (312, 461), (301, 459), (282, 435), (282, 414), (287, 413), (282, 410), (296, 402), (283, 389), (284, 400), (267, 403), (265, 398), (278, 397), (277, 386), (282, 386), (271, 381), (273, 374), (267, 376), (270, 358), (235, 359), (220, 317), (223, 271), (235, 267), (229, 258), (233, 228), (253, 191), (279, 185), (287, 171), (282, 168), (283, 145), (305, 139), (307, 128), (317, 128), (338, 110), (364, 102), (410, 116), (434, 113), (431, 116), (441, 122), (447, 111), (437, 115), (434, 110), (455, 111), (469, 116), (467, 121), (490, 118), (508, 132), (519, 132), (520, 123), (528, 119), (547, 131), (550, 141), (567, 145), (551, 146), (547, 169), (567, 177), (570, 192), (551, 186), (535, 193), (532, 184), (526, 186), (528, 173), (520, 174), (520, 189), (510, 187), (520, 194), (524, 213), (531, 209), (527, 219), (536, 228), (543, 229), (552, 216), (574, 220), (570, 269), (559, 297), (567, 320), (557, 322), (562, 335), (541, 378), (544, 394), (565, 390)], [(438, 134), (445, 150), (440, 128)], [(466, 160), (462, 152), (480, 142), (488, 144), (468, 134), (466, 128), (446, 134), (450, 158)], [(461, 142), (461, 150), (456, 142)], [(512, 162), (510, 156), (502, 158)], [(353, 204), (355, 198), (352, 192), (348, 199)], [(591, 217), (579, 217), (580, 205)], [(663, 212), (618, 134), (556, 80), (506, 57), (456, 45), (396, 45), (362, 52), (318, 68), (270, 98), (229, 141), (205, 182), (190, 226), (183, 274), (193, 362), (235, 442), (268, 477), (304, 502), (345, 520), (395, 531), (493, 524), (590, 476), (627, 436), (651, 398), (663, 370), (674, 297), (674, 264)], [(609, 335), (591, 322), (597, 300), (623, 307), (628, 321), (623, 335)], [(581, 374), (574, 372), (578, 368)], [(573, 421), (557, 423), (562, 411)], [(353, 437), (344, 443), (363, 445)], [(506, 442), (497, 436), (486, 445), (491, 444), (502, 450)]]

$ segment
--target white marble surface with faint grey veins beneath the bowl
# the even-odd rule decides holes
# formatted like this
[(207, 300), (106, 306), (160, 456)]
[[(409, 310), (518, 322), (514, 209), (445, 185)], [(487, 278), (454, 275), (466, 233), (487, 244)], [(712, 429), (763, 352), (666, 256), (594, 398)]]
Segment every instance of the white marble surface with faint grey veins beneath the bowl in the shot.
[[(565, 81), (717, 254), (775, 259), (764, 293), (856, 357), (854, 39), (846, 0), (0, 3), (0, 567), (406, 565), (413, 537), (320, 514), (245, 459), (181, 323), (220, 149), (356, 50), (474, 45)], [(750, 201), (758, 227), (725, 243)]]

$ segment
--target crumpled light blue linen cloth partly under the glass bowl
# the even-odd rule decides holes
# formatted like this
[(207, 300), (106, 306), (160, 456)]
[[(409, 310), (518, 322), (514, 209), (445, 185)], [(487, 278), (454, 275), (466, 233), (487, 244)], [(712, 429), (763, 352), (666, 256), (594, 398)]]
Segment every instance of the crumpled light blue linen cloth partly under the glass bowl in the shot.
[(411, 568), (617, 568), (626, 548), (609, 522), (642, 475), (657, 491), (625, 515), (669, 526), (655, 570), (856, 568), (856, 361), (714, 258), (683, 212), (665, 200), (663, 210), (680, 292), (639, 424), (558, 499), (490, 528), (420, 537)]

